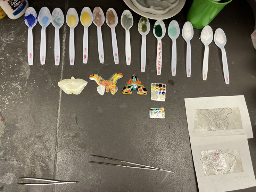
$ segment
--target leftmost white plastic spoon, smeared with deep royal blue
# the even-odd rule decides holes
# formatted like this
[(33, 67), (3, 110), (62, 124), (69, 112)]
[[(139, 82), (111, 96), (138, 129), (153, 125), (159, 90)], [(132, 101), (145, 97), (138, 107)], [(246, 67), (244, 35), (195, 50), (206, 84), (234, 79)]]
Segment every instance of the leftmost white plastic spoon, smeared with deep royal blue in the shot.
[(25, 24), (28, 26), (27, 33), (27, 59), (28, 65), (33, 65), (34, 49), (33, 49), (33, 33), (32, 29), (36, 25), (38, 18), (33, 7), (28, 7), (24, 15)]

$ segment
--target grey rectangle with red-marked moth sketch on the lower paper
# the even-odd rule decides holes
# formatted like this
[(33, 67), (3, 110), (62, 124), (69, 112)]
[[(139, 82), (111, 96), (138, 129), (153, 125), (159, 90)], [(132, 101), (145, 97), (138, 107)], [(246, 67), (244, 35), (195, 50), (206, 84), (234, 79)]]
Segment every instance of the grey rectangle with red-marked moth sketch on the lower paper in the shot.
[(201, 151), (201, 158), (205, 175), (243, 172), (237, 149)]

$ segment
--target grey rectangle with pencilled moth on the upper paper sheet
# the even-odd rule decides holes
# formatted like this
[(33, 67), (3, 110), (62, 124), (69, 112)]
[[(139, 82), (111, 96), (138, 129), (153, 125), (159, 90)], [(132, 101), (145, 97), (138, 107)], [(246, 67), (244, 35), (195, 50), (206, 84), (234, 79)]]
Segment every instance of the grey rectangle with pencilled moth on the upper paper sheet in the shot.
[(239, 108), (196, 109), (194, 131), (242, 129)]

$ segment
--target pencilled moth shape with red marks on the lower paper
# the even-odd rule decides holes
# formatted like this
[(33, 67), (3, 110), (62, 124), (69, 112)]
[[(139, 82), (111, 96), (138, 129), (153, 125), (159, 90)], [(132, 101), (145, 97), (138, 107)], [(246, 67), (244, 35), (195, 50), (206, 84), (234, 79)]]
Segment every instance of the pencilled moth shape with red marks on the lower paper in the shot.
[(230, 171), (233, 166), (236, 156), (231, 153), (222, 153), (222, 151), (216, 150), (215, 153), (207, 156), (207, 161), (213, 166), (217, 171), (225, 172)]

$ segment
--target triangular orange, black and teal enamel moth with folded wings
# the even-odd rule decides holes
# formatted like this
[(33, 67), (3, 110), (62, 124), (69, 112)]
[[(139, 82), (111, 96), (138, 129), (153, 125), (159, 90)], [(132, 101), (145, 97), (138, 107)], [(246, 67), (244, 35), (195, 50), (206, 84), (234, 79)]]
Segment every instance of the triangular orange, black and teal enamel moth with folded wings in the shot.
[(140, 82), (140, 80), (138, 79), (138, 77), (135, 74), (133, 74), (131, 76), (131, 78), (129, 79), (129, 81), (127, 81), (125, 83), (125, 86), (122, 89), (122, 93), (124, 95), (132, 94), (132, 89), (133, 90), (138, 90), (137, 94), (139, 94), (139, 95), (146, 95), (146, 94), (148, 94), (148, 91), (142, 85), (142, 83)]

